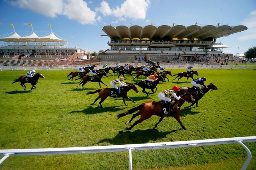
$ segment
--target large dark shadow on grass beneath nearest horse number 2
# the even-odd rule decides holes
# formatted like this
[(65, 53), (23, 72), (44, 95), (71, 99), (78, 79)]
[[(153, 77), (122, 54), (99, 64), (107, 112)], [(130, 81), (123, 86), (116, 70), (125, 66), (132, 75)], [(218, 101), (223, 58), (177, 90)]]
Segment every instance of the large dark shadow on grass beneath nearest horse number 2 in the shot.
[(110, 144), (118, 145), (118, 144), (137, 144), (137, 143), (147, 143), (149, 140), (158, 140), (161, 138), (165, 138), (167, 134), (177, 132), (178, 130), (182, 130), (182, 128), (177, 130), (171, 130), (168, 132), (159, 132), (156, 128), (147, 129), (147, 130), (135, 130), (131, 131), (119, 131), (117, 136), (114, 138), (106, 138), (100, 140), (97, 144), (103, 142), (109, 142)]

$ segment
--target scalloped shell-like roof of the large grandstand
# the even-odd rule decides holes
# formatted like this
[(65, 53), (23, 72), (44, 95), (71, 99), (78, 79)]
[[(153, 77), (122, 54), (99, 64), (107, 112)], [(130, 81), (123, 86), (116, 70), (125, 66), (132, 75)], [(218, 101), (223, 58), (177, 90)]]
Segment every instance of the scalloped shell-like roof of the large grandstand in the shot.
[(118, 37), (122, 40), (149, 40), (153, 37), (169, 37), (169, 38), (197, 38), (199, 40), (204, 40), (206, 38), (220, 38), (223, 36), (228, 36), (230, 34), (234, 34), (236, 32), (241, 32), (247, 30), (246, 26), (152, 26), (148, 25), (145, 27), (141, 26), (104, 26), (102, 30), (109, 36), (110, 38)]

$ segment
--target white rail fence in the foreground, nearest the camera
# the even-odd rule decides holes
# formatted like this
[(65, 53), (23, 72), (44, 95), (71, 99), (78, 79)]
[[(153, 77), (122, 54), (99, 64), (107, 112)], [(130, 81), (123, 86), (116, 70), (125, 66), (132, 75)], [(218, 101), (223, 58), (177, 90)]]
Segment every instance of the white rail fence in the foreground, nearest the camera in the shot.
[(246, 170), (252, 159), (250, 150), (243, 142), (256, 142), (256, 136), (236, 137), (236, 138), (219, 138), (206, 140), (188, 140), (179, 142), (161, 142), (161, 143), (145, 143), (145, 144), (124, 144), (112, 146), (88, 146), (74, 148), (41, 148), (41, 149), (6, 149), (0, 150), (0, 156), (4, 156), (0, 160), (0, 164), (9, 156), (29, 156), (29, 155), (54, 155), (54, 154), (81, 154), (81, 153), (99, 153), (99, 152), (121, 152), (129, 153), (129, 170), (132, 170), (132, 151), (134, 150), (151, 150), (151, 149), (167, 149), (181, 147), (196, 147), (216, 144), (233, 144), (238, 143), (247, 152), (247, 159), (241, 170)]

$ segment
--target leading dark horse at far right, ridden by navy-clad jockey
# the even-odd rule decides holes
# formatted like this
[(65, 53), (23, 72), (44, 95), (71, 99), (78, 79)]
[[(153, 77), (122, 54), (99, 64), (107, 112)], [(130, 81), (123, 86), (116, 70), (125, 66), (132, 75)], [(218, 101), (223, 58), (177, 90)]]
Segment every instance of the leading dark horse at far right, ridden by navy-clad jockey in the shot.
[[(207, 87), (208, 87), (208, 89), (206, 89), (205, 87), (202, 88), (202, 91), (204, 94), (207, 93), (209, 90), (218, 90), (216, 85), (214, 85), (213, 83), (210, 83), (210, 85), (208, 85)], [(202, 97), (204, 96), (203, 93), (198, 92), (198, 94), (196, 95), (195, 89), (189, 88), (189, 87), (181, 87), (179, 89), (180, 89), (180, 91), (177, 92), (177, 96), (183, 95), (185, 93), (190, 93), (193, 96), (193, 98), (195, 99), (195, 101), (190, 106), (187, 106), (184, 108), (189, 108), (189, 107), (193, 106), (195, 103), (196, 103), (196, 107), (198, 107), (198, 101), (200, 99), (202, 99)]]

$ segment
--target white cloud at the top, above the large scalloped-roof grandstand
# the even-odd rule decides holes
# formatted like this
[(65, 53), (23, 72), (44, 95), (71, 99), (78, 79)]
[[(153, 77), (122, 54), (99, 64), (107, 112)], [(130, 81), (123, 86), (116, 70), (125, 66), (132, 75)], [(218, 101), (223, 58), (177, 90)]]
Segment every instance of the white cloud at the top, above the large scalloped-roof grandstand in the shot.
[(119, 18), (120, 21), (125, 21), (126, 18), (145, 19), (149, 0), (125, 0), (121, 7), (110, 8), (106, 1), (101, 2), (101, 6), (95, 8), (97, 12), (101, 12), (104, 16), (113, 15)]

